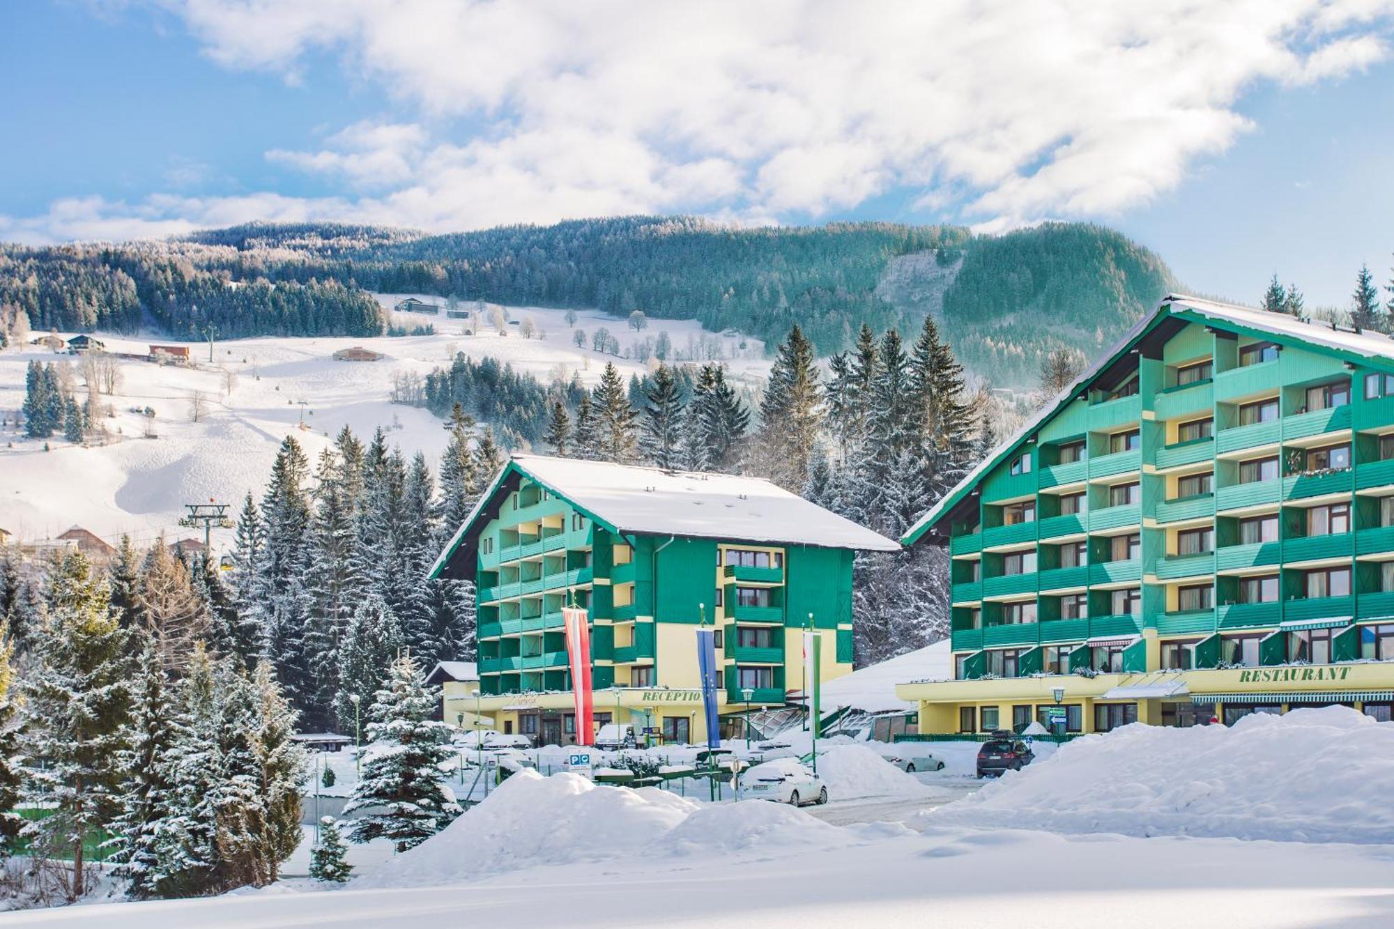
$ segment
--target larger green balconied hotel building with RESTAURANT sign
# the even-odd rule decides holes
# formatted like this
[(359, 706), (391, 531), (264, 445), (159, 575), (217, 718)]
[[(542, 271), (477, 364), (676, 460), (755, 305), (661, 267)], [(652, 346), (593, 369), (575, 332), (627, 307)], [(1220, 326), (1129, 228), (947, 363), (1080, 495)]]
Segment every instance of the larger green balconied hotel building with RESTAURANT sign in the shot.
[(902, 540), (947, 545), (920, 732), (1394, 706), (1394, 340), (1170, 296)]

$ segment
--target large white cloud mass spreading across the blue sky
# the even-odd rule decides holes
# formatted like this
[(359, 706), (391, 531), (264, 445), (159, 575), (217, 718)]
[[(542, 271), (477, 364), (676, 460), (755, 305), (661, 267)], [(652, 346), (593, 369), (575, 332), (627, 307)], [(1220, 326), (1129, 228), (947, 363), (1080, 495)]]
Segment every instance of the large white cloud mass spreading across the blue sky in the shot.
[[(298, 81), (328, 53), (399, 102), (319, 151), (269, 152), (353, 191), (266, 195), (269, 209), (428, 229), (804, 220), (901, 188), (983, 227), (1111, 216), (1231, 148), (1256, 85), (1386, 60), (1394, 14), (1394, 0), (158, 1), (223, 67)], [(216, 213), (102, 201), (93, 227)], [(17, 227), (82, 234), (72, 216)]]

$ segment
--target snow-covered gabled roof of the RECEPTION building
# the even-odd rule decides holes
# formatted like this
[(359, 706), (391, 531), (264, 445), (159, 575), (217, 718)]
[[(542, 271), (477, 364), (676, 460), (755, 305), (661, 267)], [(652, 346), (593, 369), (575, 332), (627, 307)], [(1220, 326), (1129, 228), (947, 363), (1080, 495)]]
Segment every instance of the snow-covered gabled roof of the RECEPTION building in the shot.
[[(527, 476), (616, 534), (722, 538), (771, 545), (896, 551), (880, 533), (843, 519), (760, 477), (514, 455), (436, 558), (442, 576), (475, 524), (496, 508), (514, 474)], [(473, 544), (466, 545), (473, 551)], [(459, 571), (460, 568), (456, 568)], [(466, 568), (473, 571), (473, 568)], [(454, 571), (445, 576), (457, 576)], [(467, 575), (459, 575), (467, 576)]]

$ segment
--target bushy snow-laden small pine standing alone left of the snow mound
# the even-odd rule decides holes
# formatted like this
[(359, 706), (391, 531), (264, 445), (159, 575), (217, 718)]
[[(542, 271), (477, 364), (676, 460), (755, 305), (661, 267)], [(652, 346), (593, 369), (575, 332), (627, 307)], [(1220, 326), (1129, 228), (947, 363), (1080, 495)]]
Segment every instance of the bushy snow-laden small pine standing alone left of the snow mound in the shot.
[(436, 704), (415, 661), (403, 653), (369, 710), (368, 738), (382, 745), (367, 753), (362, 780), (344, 806), (344, 813), (381, 808), (354, 820), (350, 838), (355, 843), (389, 838), (399, 852), (407, 851), (460, 815), (441, 770), (450, 756), (453, 727), (431, 718)]

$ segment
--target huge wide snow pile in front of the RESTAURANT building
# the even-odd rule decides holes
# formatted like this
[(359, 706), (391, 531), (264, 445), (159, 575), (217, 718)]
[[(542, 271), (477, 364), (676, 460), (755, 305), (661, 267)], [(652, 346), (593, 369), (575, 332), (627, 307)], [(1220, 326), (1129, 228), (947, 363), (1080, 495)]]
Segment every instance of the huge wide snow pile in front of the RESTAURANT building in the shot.
[[(820, 770), (821, 770), (820, 763)], [(934, 824), (1309, 843), (1394, 840), (1394, 724), (1347, 707), (1076, 739)]]

